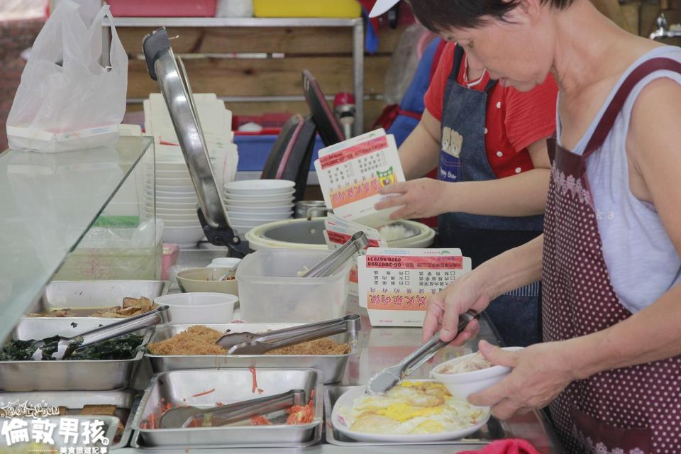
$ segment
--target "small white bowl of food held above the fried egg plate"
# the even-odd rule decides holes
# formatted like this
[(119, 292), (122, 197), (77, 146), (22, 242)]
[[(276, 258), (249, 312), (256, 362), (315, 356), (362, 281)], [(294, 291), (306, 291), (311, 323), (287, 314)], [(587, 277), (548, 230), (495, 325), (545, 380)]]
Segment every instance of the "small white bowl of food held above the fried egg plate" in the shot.
[[(523, 350), (523, 347), (504, 347), (503, 350), (516, 352), (518, 350)], [(511, 373), (511, 367), (506, 366), (492, 366), (487, 367), (486, 369), (463, 372), (460, 374), (438, 373), (438, 370), (442, 370), (446, 365), (465, 361), (472, 355), (475, 355), (475, 353), (445, 361), (431, 370), (431, 377), (445, 385), (445, 388), (447, 388), (453, 397), (463, 401), (467, 400), (470, 394), (480, 392), (483, 389), (487, 389), (492, 385), (497, 384), (502, 378)]]

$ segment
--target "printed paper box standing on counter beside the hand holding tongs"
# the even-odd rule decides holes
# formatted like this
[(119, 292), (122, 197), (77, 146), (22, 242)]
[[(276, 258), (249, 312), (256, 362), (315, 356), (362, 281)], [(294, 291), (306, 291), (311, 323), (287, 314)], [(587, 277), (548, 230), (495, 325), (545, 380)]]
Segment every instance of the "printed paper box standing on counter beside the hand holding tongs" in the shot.
[(369, 248), (357, 265), (372, 326), (422, 326), (428, 297), (471, 270), (460, 249)]

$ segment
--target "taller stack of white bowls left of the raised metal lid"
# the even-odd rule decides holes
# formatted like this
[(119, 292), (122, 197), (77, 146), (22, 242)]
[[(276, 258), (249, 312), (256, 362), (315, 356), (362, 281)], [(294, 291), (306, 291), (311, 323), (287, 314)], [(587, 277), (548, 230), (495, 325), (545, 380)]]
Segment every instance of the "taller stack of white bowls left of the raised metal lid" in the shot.
[[(154, 214), (153, 169), (145, 167), (143, 214)], [(199, 199), (184, 160), (156, 162), (156, 217), (163, 220), (163, 241), (180, 248), (195, 248), (204, 236), (196, 216)]]

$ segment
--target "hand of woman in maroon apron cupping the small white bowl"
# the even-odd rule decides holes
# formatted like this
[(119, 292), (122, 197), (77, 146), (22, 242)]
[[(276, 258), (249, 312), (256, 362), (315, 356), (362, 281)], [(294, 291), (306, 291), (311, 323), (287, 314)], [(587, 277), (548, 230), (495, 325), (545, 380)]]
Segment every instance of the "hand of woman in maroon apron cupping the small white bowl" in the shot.
[(497, 419), (509, 419), (521, 410), (541, 409), (577, 379), (575, 367), (565, 360), (565, 342), (538, 343), (517, 352), (485, 341), (479, 346), (492, 364), (513, 367), (501, 382), (468, 397), (473, 405), (492, 406)]

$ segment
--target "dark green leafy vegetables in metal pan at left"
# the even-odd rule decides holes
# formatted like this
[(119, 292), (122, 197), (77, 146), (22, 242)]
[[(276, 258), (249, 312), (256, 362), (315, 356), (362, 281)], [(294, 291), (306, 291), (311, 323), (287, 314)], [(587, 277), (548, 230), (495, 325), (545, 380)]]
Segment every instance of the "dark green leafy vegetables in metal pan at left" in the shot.
[[(142, 338), (137, 334), (126, 334), (109, 341), (103, 341), (76, 350), (65, 360), (130, 360), (142, 350)], [(53, 360), (52, 353), (57, 350), (59, 336), (43, 339), (43, 360)], [(9, 341), (0, 350), (0, 361), (31, 360), (37, 341)]]

